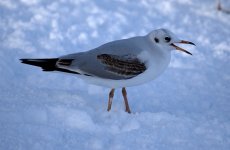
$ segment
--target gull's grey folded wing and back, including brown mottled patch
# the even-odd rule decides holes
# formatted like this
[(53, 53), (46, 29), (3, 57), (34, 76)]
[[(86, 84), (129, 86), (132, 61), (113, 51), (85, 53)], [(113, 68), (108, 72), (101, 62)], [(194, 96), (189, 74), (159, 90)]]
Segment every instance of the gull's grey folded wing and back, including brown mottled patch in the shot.
[(87, 52), (62, 56), (57, 65), (87, 76), (130, 79), (146, 70), (145, 62), (138, 58), (141, 41), (133, 38), (110, 42)]

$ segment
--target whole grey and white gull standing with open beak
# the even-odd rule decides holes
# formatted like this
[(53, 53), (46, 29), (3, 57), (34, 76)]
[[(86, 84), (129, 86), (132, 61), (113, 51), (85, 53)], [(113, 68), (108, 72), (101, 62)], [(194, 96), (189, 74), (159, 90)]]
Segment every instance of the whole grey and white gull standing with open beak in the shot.
[(170, 63), (172, 50), (192, 55), (177, 46), (178, 43), (195, 45), (178, 39), (167, 29), (157, 29), (145, 36), (112, 41), (86, 52), (20, 60), (43, 71), (71, 73), (91, 84), (111, 88), (107, 111), (111, 110), (115, 89), (122, 88), (125, 111), (131, 113), (126, 87), (149, 82), (162, 74)]

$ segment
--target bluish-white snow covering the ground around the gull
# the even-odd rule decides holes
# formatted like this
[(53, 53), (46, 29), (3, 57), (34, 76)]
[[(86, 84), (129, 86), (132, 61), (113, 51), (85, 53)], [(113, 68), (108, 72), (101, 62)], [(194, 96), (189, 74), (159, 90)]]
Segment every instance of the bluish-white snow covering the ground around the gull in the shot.
[[(197, 46), (127, 88), (131, 115), (121, 89), (107, 112), (110, 89), (19, 62), (162, 27)], [(1, 0), (0, 58), (0, 150), (230, 149), (230, 15), (214, 0)]]

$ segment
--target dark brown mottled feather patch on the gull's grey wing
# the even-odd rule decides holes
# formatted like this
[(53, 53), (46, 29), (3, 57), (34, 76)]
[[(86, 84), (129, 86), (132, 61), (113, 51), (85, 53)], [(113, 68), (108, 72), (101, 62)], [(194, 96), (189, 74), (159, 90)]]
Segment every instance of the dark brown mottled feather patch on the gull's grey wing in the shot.
[(101, 54), (97, 59), (105, 65), (106, 70), (126, 78), (135, 77), (146, 70), (146, 66), (138, 58), (132, 55), (117, 56)]

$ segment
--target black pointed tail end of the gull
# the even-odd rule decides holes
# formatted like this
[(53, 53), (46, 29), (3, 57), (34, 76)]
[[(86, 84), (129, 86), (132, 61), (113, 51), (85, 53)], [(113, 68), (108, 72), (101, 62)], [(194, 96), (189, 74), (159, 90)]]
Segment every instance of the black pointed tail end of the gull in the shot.
[(48, 58), (48, 59), (20, 59), (22, 63), (38, 66), (43, 69), (43, 71), (54, 71), (56, 70), (56, 63), (58, 58)]

